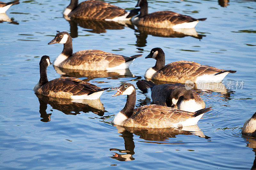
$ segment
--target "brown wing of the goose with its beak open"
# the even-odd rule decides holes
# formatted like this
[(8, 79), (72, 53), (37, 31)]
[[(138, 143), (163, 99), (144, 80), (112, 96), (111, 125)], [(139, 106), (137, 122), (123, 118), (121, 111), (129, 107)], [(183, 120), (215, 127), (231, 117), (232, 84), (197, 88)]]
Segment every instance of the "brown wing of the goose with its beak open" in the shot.
[(146, 105), (137, 108), (131, 119), (142, 126), (148, 126), (149, 123), (178, 123), (194, 117), (195, 113), (183, 110), (177, 110), (172, 107), (161, 105)]

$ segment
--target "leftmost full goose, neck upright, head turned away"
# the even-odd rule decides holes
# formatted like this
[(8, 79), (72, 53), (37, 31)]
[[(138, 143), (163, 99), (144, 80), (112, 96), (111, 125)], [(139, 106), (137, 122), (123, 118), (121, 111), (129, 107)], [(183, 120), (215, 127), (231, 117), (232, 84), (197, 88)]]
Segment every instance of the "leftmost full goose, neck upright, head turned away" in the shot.
[(50, 64), (49, 56), (42, 56), (39, 63), (40, 80), (34, 87), (36, 93), (57, 98), (96, 100), (108, 89), (101, 89), (96, 85), (73, 77), (61, 77), (48, 81), (46, 69)]

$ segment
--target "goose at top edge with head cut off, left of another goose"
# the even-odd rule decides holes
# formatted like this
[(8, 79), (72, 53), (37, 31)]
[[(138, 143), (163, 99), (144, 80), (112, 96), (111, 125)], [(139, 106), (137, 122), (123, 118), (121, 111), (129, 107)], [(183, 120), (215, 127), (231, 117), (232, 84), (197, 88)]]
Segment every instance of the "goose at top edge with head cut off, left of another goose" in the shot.
[[(127, 12), (122, 8), (115, 5), (108, 4), (99, 0), (88, 0), (78, 4), (78, 0), (71, 0), (63, 12), (64, 16), (70, 18), (82, 18), (82, 19), (104, 19), (104, 20), (130, 20), (133, 16), (137, 15), (136, 10)], [(127, 16), (129, 18), (126, 18)]]

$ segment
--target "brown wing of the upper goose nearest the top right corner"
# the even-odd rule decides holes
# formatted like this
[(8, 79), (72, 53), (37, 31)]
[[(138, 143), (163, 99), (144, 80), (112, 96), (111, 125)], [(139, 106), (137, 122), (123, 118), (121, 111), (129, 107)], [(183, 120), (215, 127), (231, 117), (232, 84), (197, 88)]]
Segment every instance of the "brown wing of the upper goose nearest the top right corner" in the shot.
[(157, 11), (153, 12), (151, 14), (143, 16), (145, 21), (151, 21), (151, 22), (163, 22), (163, 21), (170, 21), (172, 24), (182, 24), (184, 22), (193, 22), (197, 19), (192, 18), (187, 15), (181, 15), (176, 12), (172, 11)]

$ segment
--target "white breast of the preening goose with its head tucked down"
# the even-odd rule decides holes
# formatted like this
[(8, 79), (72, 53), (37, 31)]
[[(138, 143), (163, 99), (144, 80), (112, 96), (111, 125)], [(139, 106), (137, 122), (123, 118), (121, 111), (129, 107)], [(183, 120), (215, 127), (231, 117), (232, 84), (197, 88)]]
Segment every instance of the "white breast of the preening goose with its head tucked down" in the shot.
[(194, 99), (181, 101), (178, 106), (178, 109), (188, 111), (188, 112), (196, 112), (197, 110), (203, 109), (202, 105), (197, 104)]

